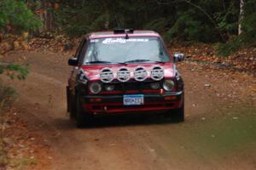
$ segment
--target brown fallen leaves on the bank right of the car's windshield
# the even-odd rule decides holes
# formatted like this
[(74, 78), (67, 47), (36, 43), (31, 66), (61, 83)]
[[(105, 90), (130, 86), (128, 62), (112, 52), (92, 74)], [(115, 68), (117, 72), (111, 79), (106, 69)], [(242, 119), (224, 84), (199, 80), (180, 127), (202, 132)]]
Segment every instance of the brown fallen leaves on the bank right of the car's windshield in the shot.
[(171, 54), (183, 53), (186, 59), (206, 65), (212, 69), (230, 69), (256, 74), (256, 48), (243, 48), (228, 57), (216, 54), (215, 44), (183, 42), (169, 46)]

